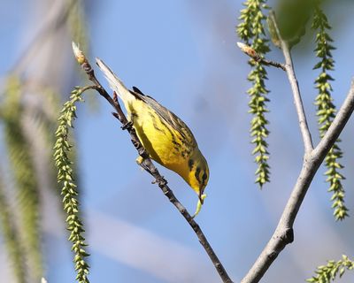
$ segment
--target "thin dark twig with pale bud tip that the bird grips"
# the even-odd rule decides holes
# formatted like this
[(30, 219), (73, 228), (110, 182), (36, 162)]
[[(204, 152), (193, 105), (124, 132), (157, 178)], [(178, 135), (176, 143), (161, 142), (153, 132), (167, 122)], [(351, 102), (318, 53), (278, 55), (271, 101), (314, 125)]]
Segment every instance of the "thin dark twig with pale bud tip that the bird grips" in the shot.
[(83, 55), (83, 53), (78, 49), (75, 51), (75, 47), (73, 47), (73, 50), (74, 50), (75, 57), (77, 58), (78, 62), (81, 64), (82, 69), (85, 71), (85, 73), (89, 75), (89, 80), (91, 80), (96, 85), (96, 90), (98, 91), (98, 93), (101, 96), (104, 96), (104, 98), (112, 105), (115, 111), (117, 111), (112, 114), (115, 118), (119, 119), (120, 123), (122, 124), (121, 126), (122, 129), (127, 129), (127, 132), (130, 134), (130, 138), (133, 145), (135, 146), (135, 149), (138, 151), (139, 155), (143, 158), (141, 164), (142, 168), (144, 168), (145, 171), (149, 172), (150, 175), (154, 177), (155, 179), (154, 183), (158, 184), (158, 187), (161, 188), (161, 190), (168, 198), (168, 200), (171, 203), (173, 203), (173, 205), (177, 208), (177, 210), (180, 211), (181, 215), (187, 220), (189, 226), (192, 227), (193, 231), (196, 233), (198, 240), (202, 244), (208, 256), (211, 258), (212, 264), (214, 264), (217, 272), (219, 273), (219, 277), (222, 279), (222, 281), (224, 283), (232, 283), (233, 281), (229, 278), (224, 266), (221, 264), (218, 256), (213, 251), (212, 246), (207, 241), (202, 229), (196, 224), (196, 221), (191, 217), (189, 211), (180, 203), (180, 201), (175, 197), (175, 195), (173, 195), (173, 191), (170, 189), (170, 187), (167, 186), (167, 181), (164, 179), (163, 176), (160, 175), (158, 169), (152, 163), (149, 154), (143, 148), (142, 143), (140, 142), (135, 132), (135, 128), (130, 122), (128, 122), (127, 117), (124, 115), (124, 112), (121, 110), (117, 96), (113, 94), (113, 98), (112, 98), (112, 96), (110, 96), (107, 93), (107, 91), (102, 87), (101, 83), (96, 79), (94, 70), (89, 64), (89, 61)]

